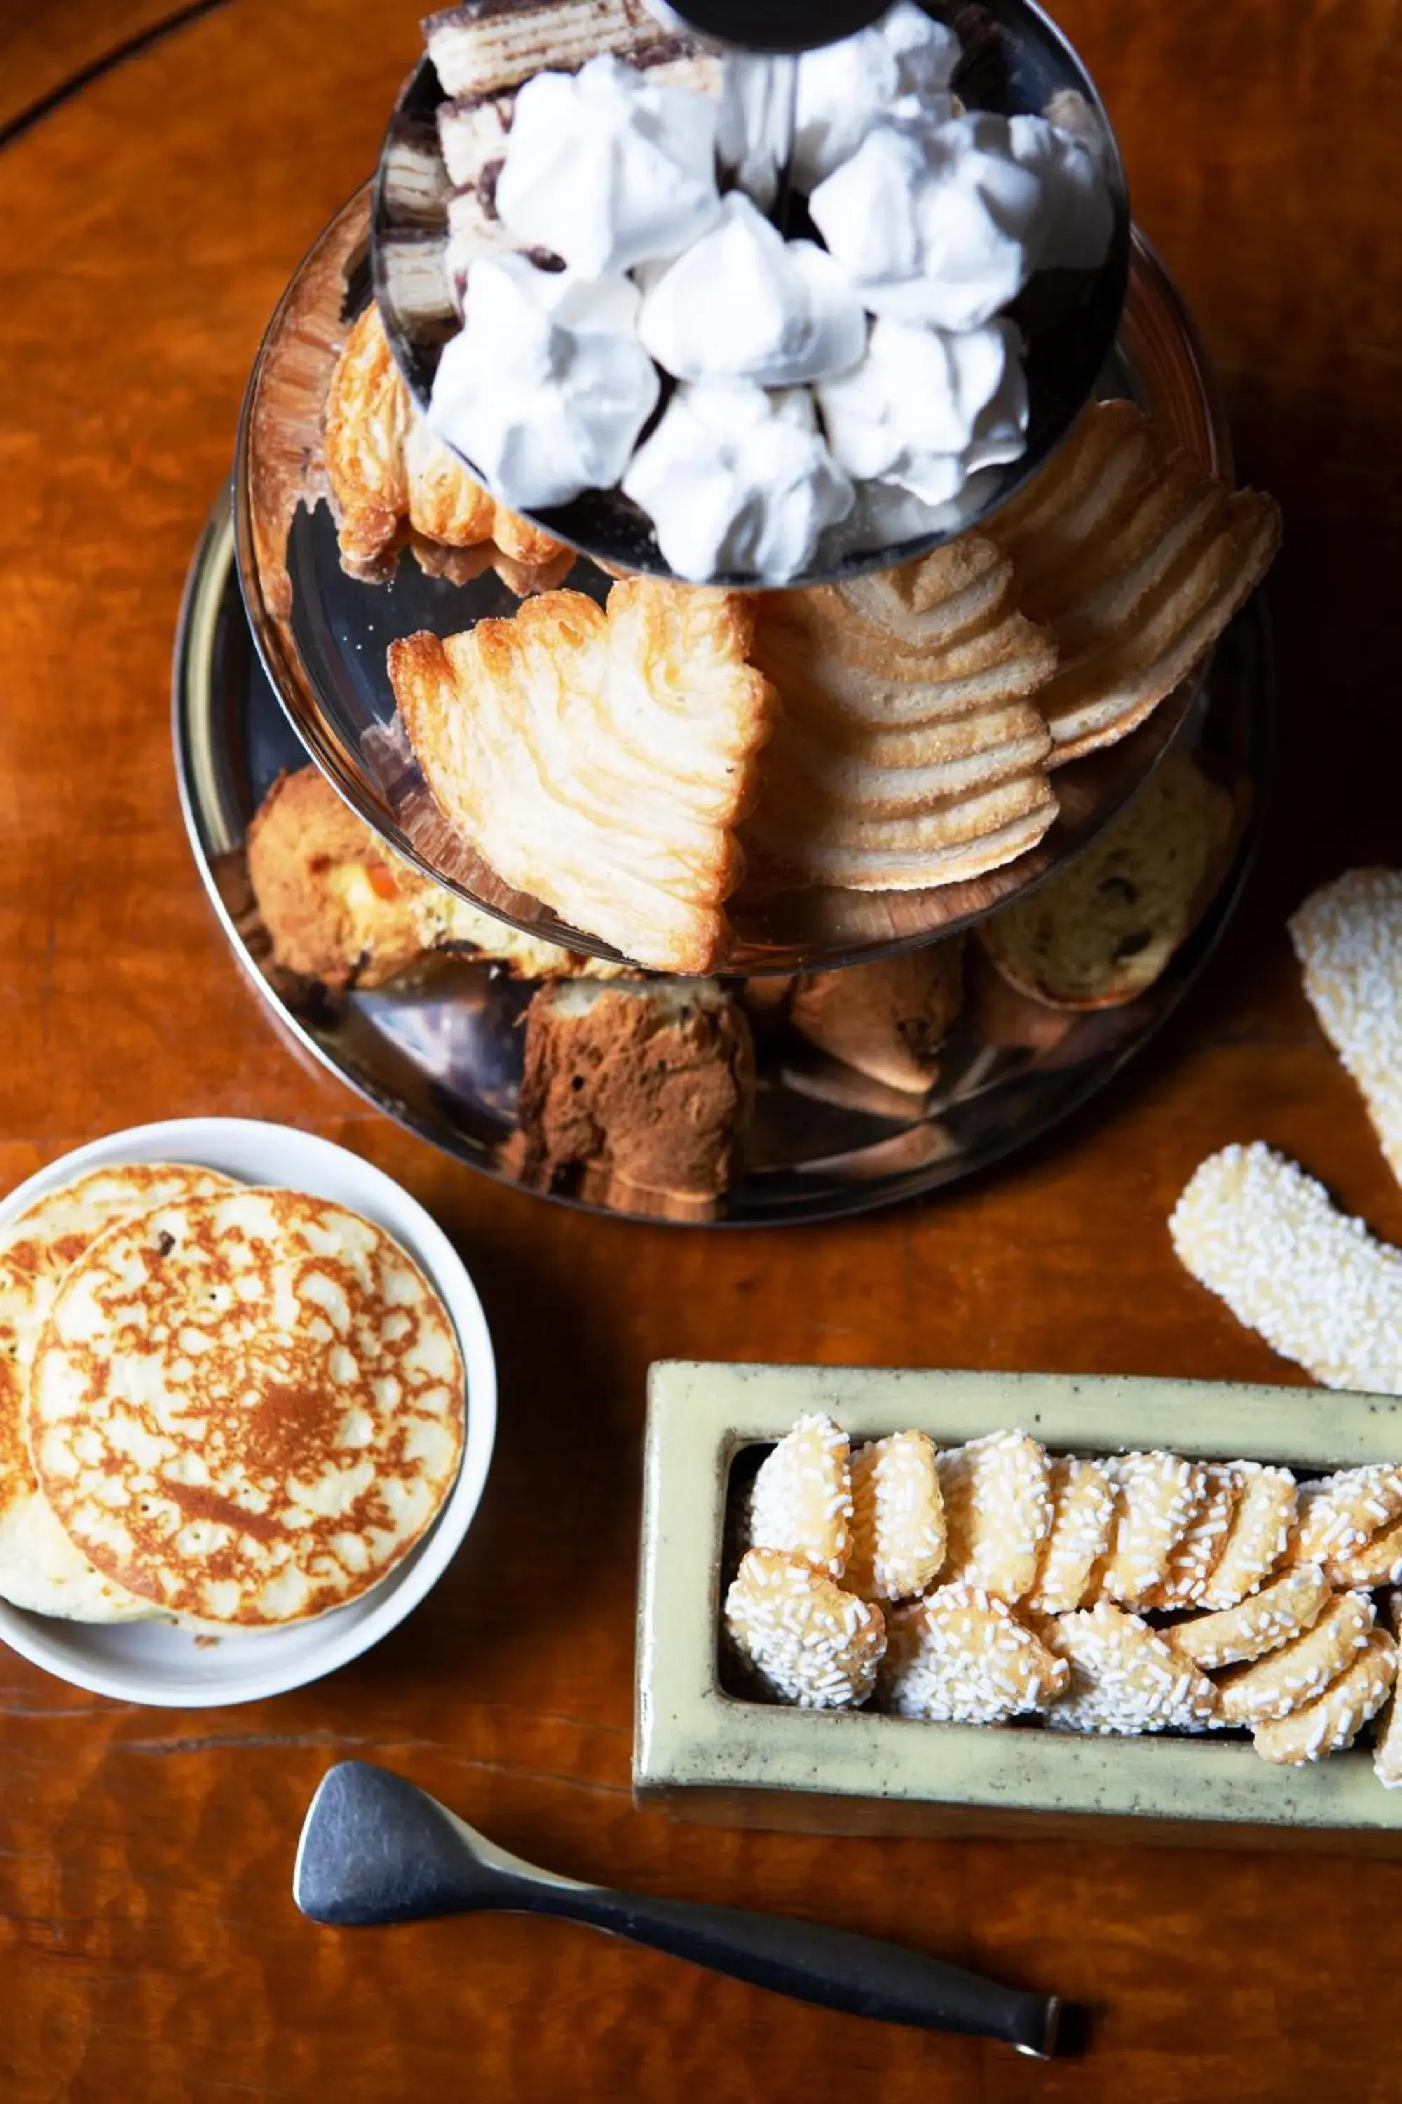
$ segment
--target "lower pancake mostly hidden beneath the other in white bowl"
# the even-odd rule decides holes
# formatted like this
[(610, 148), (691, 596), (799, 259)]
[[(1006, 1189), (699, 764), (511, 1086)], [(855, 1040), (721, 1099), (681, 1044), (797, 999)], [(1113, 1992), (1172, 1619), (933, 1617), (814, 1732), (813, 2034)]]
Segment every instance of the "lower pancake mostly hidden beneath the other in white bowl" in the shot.
[(0, 1239), (0, 1599), (74, 1622), (151, 1614), (92, 1570), (40, 1494), (25, 1445), (34, 1347), (63, 1273), (116, 1220), (229, 1187), (214, 1170), (132, 1161), (92, 1170), (36, 1199)]

